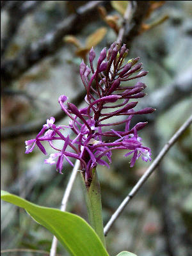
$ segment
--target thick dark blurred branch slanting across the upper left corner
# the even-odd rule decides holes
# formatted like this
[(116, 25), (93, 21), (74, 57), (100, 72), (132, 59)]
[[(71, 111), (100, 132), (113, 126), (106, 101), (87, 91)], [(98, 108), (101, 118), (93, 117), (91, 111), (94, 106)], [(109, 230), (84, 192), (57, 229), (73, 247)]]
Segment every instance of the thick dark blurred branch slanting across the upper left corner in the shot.
[[(21, 76), (26, 70), (46, 56), (54, 54), (63, 46), (63, 36), (73, 34), (83, 28), (93, 19), (95, 9), (99, 4), (108, 4), (108, 1), (89, 1), (84, 6), (77, 9), (75, 14), (69, 15), (65, 20), (56, 25), (53, 31), (47, 33), (38, 42), (32, 43), (23, 49), (13, 60), (3, 61), (1, 65), (1, 77), (4, 86), (17, 77)], [(79, 26), (81, 24), (81, 27)]]

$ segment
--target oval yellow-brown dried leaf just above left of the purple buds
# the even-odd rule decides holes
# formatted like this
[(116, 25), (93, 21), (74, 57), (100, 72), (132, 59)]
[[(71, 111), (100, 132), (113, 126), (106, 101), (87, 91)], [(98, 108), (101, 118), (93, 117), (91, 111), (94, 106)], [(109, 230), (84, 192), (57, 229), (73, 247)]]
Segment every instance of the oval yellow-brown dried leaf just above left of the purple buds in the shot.
[(93, 34), (86, 38), (86, 48), (91, 49), (92, 46), (94, 47), (95, 45), (99, 44), (99, 42), (102, 40), (102, 38), (104, 38), (106, 33), (107, 29), (104, 27), (97, 29)]

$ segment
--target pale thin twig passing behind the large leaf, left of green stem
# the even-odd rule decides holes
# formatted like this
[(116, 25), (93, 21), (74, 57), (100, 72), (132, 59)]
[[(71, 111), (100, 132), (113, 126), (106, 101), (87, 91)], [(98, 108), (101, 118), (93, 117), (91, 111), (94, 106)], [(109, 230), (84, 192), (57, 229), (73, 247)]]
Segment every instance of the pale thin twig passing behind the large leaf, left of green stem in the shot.
[[(65, 193), (63, 195), (63, 199), (62, 199), (62, 202), (61, 202), (60, 210), (63, 211), (63, 212), (65, 212), (65, 210), (66, 210), (68, 198), (70, 196), (72, 186), (73, 186), (74, 181), (76, 179), (78, 169), (79, 169), (79, 160), (76, 160), (76, 163), (75, 163), (74, 168), (72, 170), (72, 173), (70, 175), (70, 179), (68, 180), (67, 188), (65, 189)], [(50, 256), (56, 256), (57, 245), (58, 245), (58, 239), (54, 236), (53, 239), (52, 239)]]

